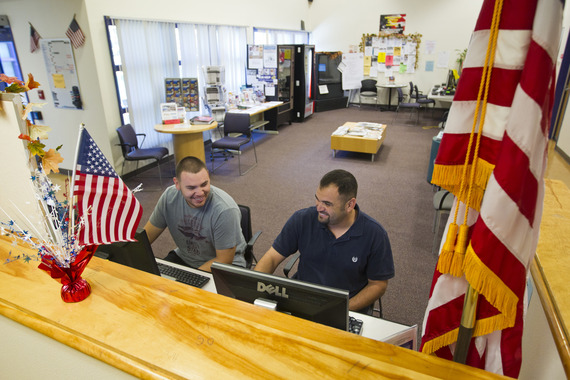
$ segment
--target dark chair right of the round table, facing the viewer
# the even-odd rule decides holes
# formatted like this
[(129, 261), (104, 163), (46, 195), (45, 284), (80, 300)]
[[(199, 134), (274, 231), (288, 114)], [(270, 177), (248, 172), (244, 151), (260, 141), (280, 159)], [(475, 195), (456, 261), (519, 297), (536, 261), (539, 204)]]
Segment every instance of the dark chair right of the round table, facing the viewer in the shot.
[[(237, 135), (237, 136), (236, 136)], [(249, 169), (242, 173), (241, 171), (241, 148), (245, 144), (251, 142), (253, 145), (253, 154), (255, 156), (255, 164), (253, 164)], [(251, 128), (249, 124), (249, 114), (247, 113), (236, 113), (228, 112), (224, 118), (224, 137), (216, 140), (212, 143), (212, 152), (214, 150), (222, 150), (226, 153), (228, 151), (237, 151), (238, 156), (238, 167), (239, 174), (244, 175), (251, 169), (257, 166), (257, 152), (255, 151), (255, 142), (253, 141), (253, 136), (251, 133)], [(224, 161), (228, 160), (231, 155), (224, 155)], [(214, 166), (215, 155), (211, 155), (212, 159), (212, 173), (217, 169)], [(223, 164), (220, 164), (222, 166)]]

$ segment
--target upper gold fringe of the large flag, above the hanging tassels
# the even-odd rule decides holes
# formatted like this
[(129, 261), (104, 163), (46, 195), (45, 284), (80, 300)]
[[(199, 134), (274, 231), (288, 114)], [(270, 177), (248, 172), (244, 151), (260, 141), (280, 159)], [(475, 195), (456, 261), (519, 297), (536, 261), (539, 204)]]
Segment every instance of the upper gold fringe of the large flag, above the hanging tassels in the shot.
[[(483, 194), (487, 188), (489, 177), (495, 168), (495, 165), (490, 164), (481, 158), (476, 160), (477, 167), (475, 170), (475, 177), (473, 179), (473, 190), (471, 193), (471, 201), (469, 207), (479, 211)], [(472, 165), (467, 167), (467, 173), (471, 172)], [(463, 165), (434, 165), (431, 183), (441, 186), (449, 190), (461, 202), (467, 201), (467, 191), (469, 184), (465, 185), (465, 191), (461, 192), (461, 177), (463, 174)]]

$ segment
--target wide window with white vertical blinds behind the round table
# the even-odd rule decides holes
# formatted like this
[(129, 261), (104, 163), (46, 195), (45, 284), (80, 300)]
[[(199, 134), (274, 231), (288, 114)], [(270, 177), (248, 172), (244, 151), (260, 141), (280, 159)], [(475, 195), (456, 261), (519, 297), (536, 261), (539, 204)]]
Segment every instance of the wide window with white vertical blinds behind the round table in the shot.
[[(171, 149), (171, 138), (154, 133), (165, 101), (166, 78), (198, 78), (204, 112), (204, 66), (224, 66), (227, 91), (245, 83), (245, 27), (105, 17), (123, 124), (146, 133), (145, 145)], [(188, 115), (194, 116), (192, 114)]]

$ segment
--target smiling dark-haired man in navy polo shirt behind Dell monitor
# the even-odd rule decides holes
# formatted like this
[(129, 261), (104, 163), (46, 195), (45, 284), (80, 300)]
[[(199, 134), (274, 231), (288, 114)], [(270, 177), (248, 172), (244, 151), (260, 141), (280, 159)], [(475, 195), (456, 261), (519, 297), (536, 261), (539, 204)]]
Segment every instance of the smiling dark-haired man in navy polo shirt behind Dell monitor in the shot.
[(273, 273), (299, 251), (295, 278), (350, 292), (349, 309), (368, 312), (394, 277), (386, 230), (360, 211), (358, 184), (346, 170), (324, 175), (316, 206), (295, 212), (255, 270)]

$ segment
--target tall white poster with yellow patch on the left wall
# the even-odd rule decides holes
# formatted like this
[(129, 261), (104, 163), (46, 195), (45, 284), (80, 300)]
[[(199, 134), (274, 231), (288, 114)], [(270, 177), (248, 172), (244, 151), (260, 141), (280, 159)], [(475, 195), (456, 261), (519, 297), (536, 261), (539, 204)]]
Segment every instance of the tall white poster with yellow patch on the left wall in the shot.
[(41, 39), (49, 86), (56, 108), (83, 109), (69, 38)]

